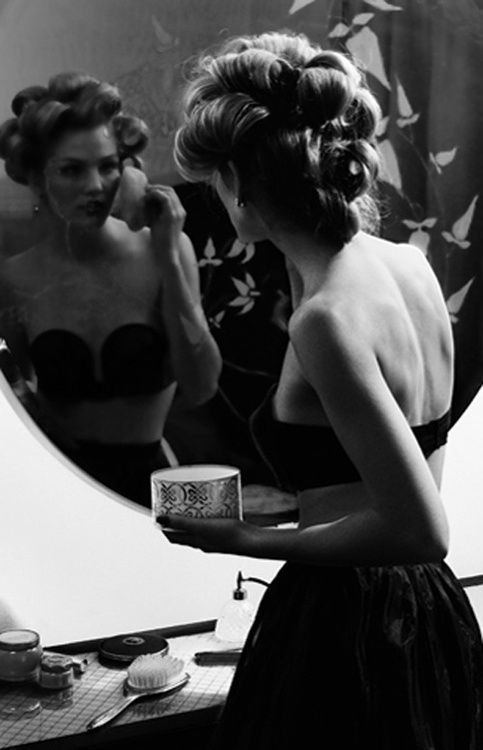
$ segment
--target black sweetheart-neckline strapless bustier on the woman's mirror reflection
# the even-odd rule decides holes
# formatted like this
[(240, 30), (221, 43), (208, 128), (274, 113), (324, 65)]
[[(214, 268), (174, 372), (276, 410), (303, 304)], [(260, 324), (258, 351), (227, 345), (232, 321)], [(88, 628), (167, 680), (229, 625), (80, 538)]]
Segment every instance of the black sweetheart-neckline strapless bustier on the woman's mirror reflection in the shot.
[(167, 354), (166, 336), (152, 326), (120, 326), (102, 344), (102, 380), (97, 380), (92, 351), (78, 334), (51, 329), (30, 344), (38, 390), (53, 400), (105, 400), (157, 393), (174, 379)]

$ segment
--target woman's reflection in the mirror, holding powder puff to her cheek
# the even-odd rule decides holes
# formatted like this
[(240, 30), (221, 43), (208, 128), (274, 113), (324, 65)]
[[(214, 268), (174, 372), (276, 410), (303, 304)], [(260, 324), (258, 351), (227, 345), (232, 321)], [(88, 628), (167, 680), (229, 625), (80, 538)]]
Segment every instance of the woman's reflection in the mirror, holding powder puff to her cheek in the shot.
[(168, 464), (161, 441), (175, 392), (202, 403), (220, 372), (184, 210), (172, 188), (146, 186), (129, 166), (129, 226), (111, 215), (124, 163), (139, 166), (148, 140), (114, 86), (60, 74), (21, 91), (12, 109), (0, 155), (47, 231), (2, 267), (2, 334), (59, 447), (149, 506), (150, 473)]

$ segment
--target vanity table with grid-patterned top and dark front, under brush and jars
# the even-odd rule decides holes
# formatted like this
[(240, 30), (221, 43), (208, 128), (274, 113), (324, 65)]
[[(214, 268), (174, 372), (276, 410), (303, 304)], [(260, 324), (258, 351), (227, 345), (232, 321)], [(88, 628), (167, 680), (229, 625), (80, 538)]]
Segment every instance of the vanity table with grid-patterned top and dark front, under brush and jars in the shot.
[(1, 683), (0, 748), (149, 750), (162, 744), (163, 750), (203, 750), (234, 673), (232, 665), (200, 666), (193, 660), (195, 652), (216, 648), (213, 627), (213, 621), (205, 621), (149, 631), (163, 636), (169, 653), (184, 660), (188, 683), (163, 697), (141, 698), (111, 723), (92, 731), (87, 731), (87, 722), (120, 699), (127, 667), (99, 658), (102, 639), (49, 648), (82, 657), (85, 671), (67, 691), (34, 683)]

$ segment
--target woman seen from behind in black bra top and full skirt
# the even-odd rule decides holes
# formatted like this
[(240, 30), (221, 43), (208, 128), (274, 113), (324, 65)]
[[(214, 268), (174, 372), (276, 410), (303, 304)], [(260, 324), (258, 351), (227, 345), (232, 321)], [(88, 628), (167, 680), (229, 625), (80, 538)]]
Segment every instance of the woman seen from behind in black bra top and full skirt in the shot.
[(298, 527), (159, 519), (178, 544), (287, 561), (215, 747), (477, 750), (483, 649), (443, 562), (451, 329), (423, 254), (365, 231), (379, 107), (347, 57), (278, 33), (201, 59), (184, 103), (182, 174), (215, 185), (242, 241), (279, 248), (293, 306), (252, 429)]

